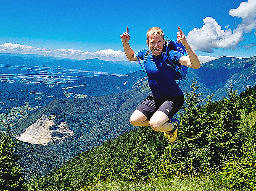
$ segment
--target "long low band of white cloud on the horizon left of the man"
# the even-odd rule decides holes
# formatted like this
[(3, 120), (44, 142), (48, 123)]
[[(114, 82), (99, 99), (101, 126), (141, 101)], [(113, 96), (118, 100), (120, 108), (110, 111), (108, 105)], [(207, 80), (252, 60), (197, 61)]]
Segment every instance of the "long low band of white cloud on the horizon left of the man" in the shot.
[(62, 56), (66, 58), (88, 59), (99, 58), (103, 60), (127, 60), (125, 53), (121, 50), (113, 49), (98, 50), (96, 52), (74, 50), (74, 49), (48, 49), (38, 48), (22, 44), (13, 44), (11, 42), (0, 44), (0, 53), (31, 53), (52, 56)]

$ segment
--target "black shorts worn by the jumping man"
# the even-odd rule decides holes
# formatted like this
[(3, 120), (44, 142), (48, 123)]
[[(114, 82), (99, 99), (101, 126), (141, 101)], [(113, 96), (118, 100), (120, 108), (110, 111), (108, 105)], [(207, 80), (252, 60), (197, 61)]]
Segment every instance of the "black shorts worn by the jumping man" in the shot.
[(137, 107), (150, 120), (156, 111), (164, 112), (169, 120), (180, 110), (184, 104), (184, 96), (175, 96), (169, 98), (154, 98), (150, 94), (143, 102)]

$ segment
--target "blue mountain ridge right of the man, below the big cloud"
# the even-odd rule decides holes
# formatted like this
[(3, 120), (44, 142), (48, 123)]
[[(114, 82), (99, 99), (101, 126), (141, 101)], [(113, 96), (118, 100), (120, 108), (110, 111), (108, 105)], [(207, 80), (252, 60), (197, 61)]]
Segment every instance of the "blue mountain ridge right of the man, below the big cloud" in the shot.
[[(246, 88), (256, 84), (256, 56), (251, 58), (234, 58), (221, 57), (201, 64), (201, 68), (197, 70), (190, 69), (187, 74), (189, 81), (198, 81), (199, 91), (203, 93), (205, 98), (210, 94), (214, 94), (213, 99), (219, 100), (226, 96), (225, 89), (230, 84), (234, 86), (234, 90), (238, 94), (244, 92)], [(190, 82), (181, 82), (182, 90), (187, 91)], [(183, 83), (184, 82), (184, 83)]]

